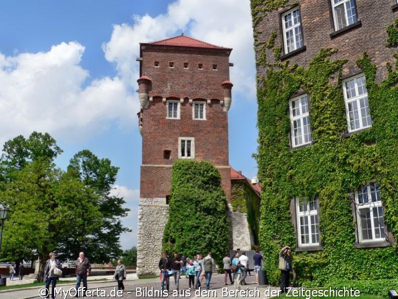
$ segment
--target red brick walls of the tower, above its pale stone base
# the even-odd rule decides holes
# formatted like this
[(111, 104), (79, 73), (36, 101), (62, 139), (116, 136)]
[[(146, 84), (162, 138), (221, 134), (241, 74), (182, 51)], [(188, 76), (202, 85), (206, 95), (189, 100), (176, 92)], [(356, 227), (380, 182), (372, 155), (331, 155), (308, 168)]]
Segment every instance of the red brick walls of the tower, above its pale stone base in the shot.
[[(188, 39), (189, 37), (187, 37)], [(141, 44), (139, 94), (148, 94), (141, 110), (141, 198), (170, 194), (171, 166), (179, 158), (179, 138), (194, 138), (195, 159), (215, 165), (230, 199), (228, 112), (222, 84), (229, 80), (231, 49)], [(167, 118), (168, 101), (179, 118)], [(205, 119), (193, 118), (194, 103), (204, 104)]]

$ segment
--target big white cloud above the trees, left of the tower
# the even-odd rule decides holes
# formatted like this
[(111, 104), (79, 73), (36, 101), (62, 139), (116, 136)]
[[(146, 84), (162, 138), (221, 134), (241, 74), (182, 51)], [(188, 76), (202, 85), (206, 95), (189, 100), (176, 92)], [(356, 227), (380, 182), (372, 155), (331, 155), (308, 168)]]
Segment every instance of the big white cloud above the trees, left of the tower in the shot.
[(76, 139), (100, 134), (114, 120), (131, 126), (138, 101), (119, 78), (83, 88), (90, 79), (79, 65), (84, 50), (78, 42), (62, 42), (47, 52), (0, 53), (1, 144), (34, 130)]

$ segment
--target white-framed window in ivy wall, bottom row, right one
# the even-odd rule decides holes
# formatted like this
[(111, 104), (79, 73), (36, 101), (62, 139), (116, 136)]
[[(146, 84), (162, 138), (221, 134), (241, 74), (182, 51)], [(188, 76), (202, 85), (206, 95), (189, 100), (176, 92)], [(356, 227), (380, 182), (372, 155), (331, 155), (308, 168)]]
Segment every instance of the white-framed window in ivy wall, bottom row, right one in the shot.
[(379, 184), (371, 182), (355, 191), (359, 243), (385, 241), (384, 211)]

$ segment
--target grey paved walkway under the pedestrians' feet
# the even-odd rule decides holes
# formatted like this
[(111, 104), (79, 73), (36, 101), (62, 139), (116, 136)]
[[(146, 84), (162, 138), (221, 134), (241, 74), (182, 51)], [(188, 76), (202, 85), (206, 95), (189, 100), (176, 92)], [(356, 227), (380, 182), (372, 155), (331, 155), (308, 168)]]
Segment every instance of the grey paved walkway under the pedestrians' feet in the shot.
[[(107, 276), (111, 278), (111, 276)], [(98, 278), (98, 277), (93, 277)], [(180, 279), (180, 290), (175, 290), (174, 278), (170, 279), (170, 292), (168, 296), (161, 296), (160, 294), (160, 280), (155, 279), (143, 279), (143, 280), (125, 280), (125, 290), (122, 294), (117, 294), (117, 283), (115, 282), (89, 282), (88, 287), (91, 294), (88, 294), (85, 298), (123, 298), (123, 299), (136, 299), (136, 298), (187, 298), (198, 299), (198, 298), (259, 298), (265, 299), (271, 297), (272, 291), (277, 293), (278, 288), (268, 286), (258, 286), (255, 283), (255, 276), (246, 277), (246, 286), (241, 286), (241, 293), (235, 293), (233, 285), (224, 285), (223, 274), (213, 274), (210, 283), (210, 292), (206, 290), (189, 290), (188, 279), (184, 277)], [(204, 285), (205, 280), (202, 282)], [(43, 286), (44, 287), (44, 286)], [(74, 284), (58, 285), (58, 290), (67, 293), (69, 289), (74, 288)], [(4, 291), (2, 291), (4, 292)], [(39, 295), (40, 287), (34, 287), (29, 289), (22, 289), (18, 291), (11, 291), (6, 293), (0, 293), (0, 298), (4, 299), (40, 299)], [(174, 293), (173, 293), (174, 292)], [(56, 294), (55, 298), (66, 298), (71, 299), (73, 297), (70, 294)], [(275, 294), (274, 296), (275, 297)]]

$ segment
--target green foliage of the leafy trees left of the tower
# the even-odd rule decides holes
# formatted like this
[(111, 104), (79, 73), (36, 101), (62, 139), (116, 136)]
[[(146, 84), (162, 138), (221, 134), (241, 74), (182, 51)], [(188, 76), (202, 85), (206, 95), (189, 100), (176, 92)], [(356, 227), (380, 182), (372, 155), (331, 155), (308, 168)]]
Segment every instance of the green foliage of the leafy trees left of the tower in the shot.
[[(122, 198), (110, 195), (118, 168), (108, 159), (84, 150), (63, 171), (54, 163), (62, 150), (50, 135), (37, 132), (6, 142), (3, 151), (0, 198), (10, 212), (4, 223), (2, 260), (36, 255), (43, 275), (51, 251), (63, 261), (74, 260), (80, 251), (98, 263), (121, 255), (119, 235), (128, 229), (120, 217), (128, 209), (122, 208)], [(79, 159), (85, 162), (79, 164)], [(100, 175), (87, 179), (81, 171), (86, 164), (90, 173)]]

